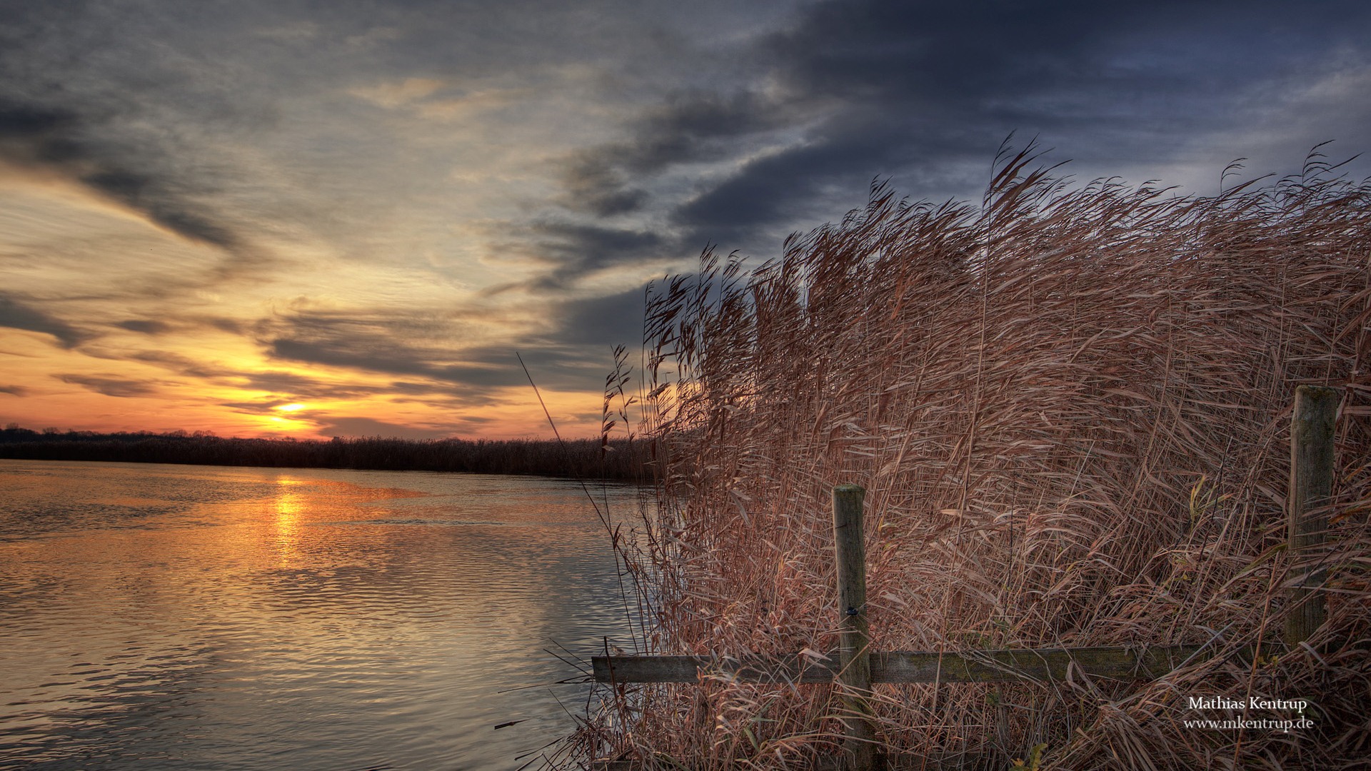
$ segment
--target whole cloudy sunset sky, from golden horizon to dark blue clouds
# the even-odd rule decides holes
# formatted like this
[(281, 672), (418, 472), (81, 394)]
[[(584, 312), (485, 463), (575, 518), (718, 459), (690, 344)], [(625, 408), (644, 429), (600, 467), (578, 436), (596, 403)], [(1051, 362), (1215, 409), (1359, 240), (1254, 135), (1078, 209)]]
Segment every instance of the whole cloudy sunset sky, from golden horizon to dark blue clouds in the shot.
[(588, 436), (647, 281), (979, 202), (1006, 137), (1355, 156), (1371, 4), (0, 0), (0, 423), (550, 436), (517, 353)]

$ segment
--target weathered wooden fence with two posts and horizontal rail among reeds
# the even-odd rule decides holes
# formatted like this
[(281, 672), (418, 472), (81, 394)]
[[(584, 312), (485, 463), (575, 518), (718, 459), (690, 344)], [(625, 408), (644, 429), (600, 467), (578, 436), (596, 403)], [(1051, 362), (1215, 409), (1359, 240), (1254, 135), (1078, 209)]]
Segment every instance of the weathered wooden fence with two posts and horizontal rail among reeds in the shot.
[[(1294, 556), (1318, 549), (1327, 530), (1327, 505), (1334, 475), (1334, 421), (1339, 394), (1334, 388), (1296, 388), (1290, 432), (1290, 495), (1287, 539)], [(1132, 648), (1046, 648), (971, 652), (869, 650), (866, 619), (866, 562), (862, 501), (856, 484), (834, 488), (834, 553), (838, 568), (838, 606), (842, 609), (839, 648), (827, 659), (799, 653), (780, 657), (724, 659), (712, 656), (594, 656), (598, 683), (695, 683), (710, 674), (750, 682), (832, 683), (838, 686), (846, 728), (839, 767), (871, 771), (883, 766), (875, 752), (875, 726), (868, 701), (872, 683), (986, 683), (1052, 682), (1075, 674), (1152, 680), (1205, 657), (1200, 645)], [(1308, 639), (1326, 610), (1323, 571), (1312, 571), (1291, 587), (1283, 642)], [(1249, 652), (1250, 653), (1250, 652)], [(595, 771), (636, 771), (640, 761), (596, 760)]]

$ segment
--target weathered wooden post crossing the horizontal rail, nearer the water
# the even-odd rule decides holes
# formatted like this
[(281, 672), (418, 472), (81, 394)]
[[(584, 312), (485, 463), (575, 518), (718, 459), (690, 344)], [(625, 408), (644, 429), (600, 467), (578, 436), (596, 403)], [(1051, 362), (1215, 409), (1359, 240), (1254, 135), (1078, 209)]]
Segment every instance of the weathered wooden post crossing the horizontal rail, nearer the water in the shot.
[(871, 621), (866, 619), (866, 545), (862, 528), (862, 501), (866, 490), (858, 484), (834, 487), (834, 551), (838, 557), (838, 608), (842, 631), (838, 648), (838, 687), (842, 693), (847, 739), (843, 755), (853, 771), (875, 767), (873, 712), (871, 694)]

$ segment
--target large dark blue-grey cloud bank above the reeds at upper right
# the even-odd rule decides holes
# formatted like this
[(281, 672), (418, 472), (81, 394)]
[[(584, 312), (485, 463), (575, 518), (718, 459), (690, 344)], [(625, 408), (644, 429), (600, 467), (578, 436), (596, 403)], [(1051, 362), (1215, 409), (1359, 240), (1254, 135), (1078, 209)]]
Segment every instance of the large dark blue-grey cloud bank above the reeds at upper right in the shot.
[[(1193, 161), (1202, 137), (1248, 128), (1253, 89), (1364, 66), (1368, 29), (1371, 7), (1355, 3), (814, 3), (754, 43), (750, 78), (670, 93), (627, 125), (628, 140), (572, 158), (563, 182), (573, 209), (606, 215), (644, 209), (635, 191), (664, 170), (732, 158), (733, 171), (657, 213), (684, 244), (775, 251), (784, 232), (860, 204), (873, 177), (973, 199), (1015, 132), (1111, 173)], [(1360, 102), (1335, 110), (1366, 112)], [(1353, 122), (1328, 112), (1323, 125)], [(1371, 140), (1352, 130), (1338, 139)], [(1272, 161), (1298, 162), (1324, 139), (1286, 137), (1290, 158)]]

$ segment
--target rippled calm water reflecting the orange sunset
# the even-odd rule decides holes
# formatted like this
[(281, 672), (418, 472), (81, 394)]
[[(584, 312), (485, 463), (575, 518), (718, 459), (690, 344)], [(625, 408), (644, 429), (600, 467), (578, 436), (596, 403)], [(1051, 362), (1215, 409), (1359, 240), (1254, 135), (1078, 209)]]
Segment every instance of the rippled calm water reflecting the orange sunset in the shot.
[(0, 768), (518, 768), (618, 597), (574, 483), (0, 460)]

